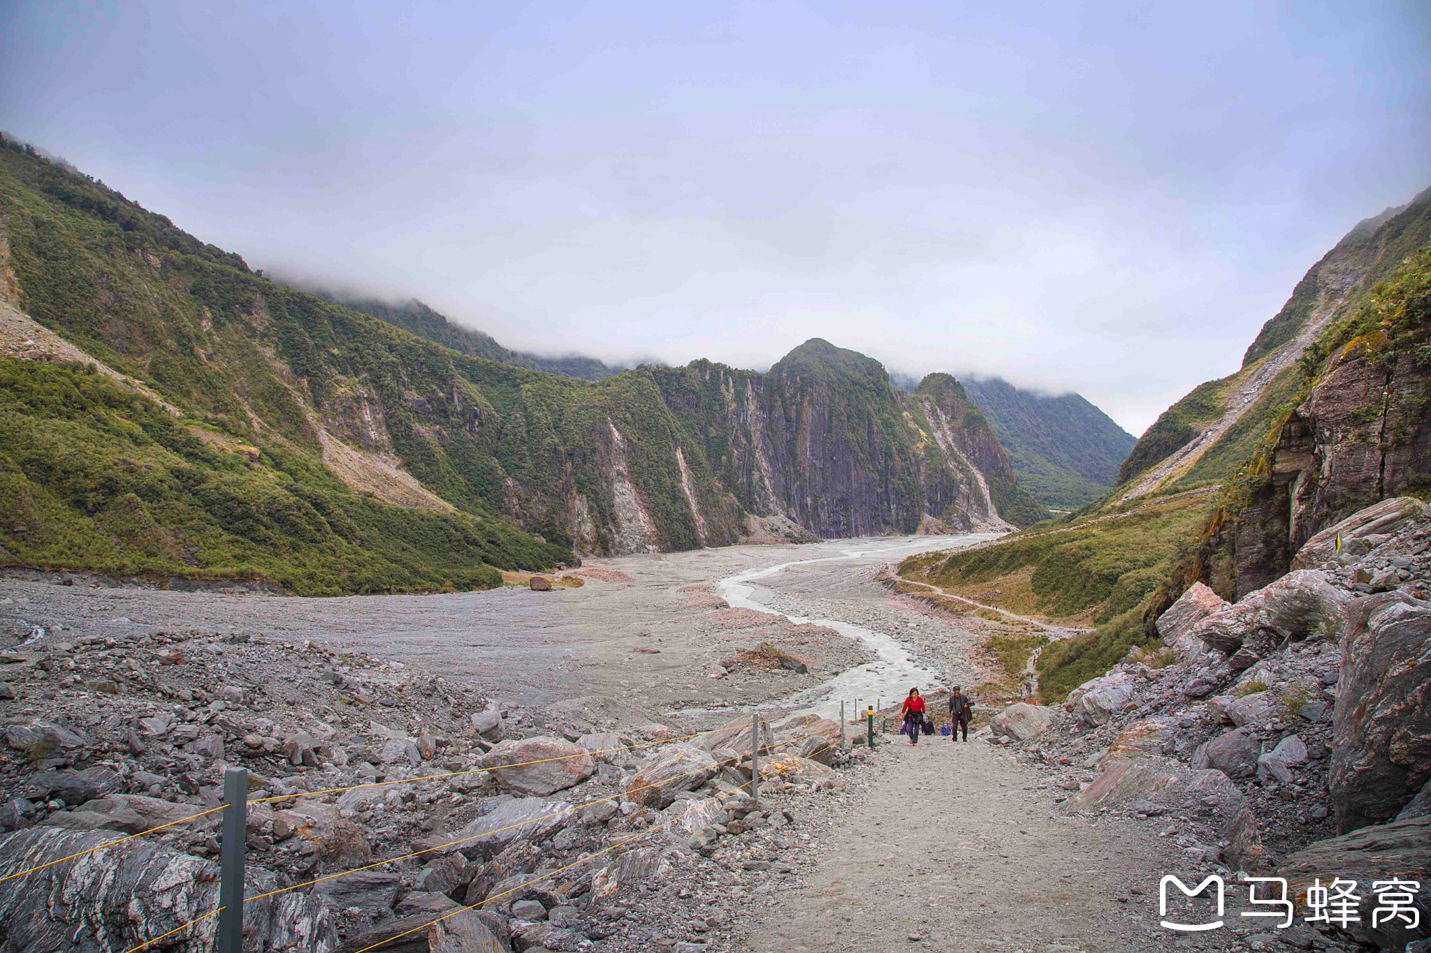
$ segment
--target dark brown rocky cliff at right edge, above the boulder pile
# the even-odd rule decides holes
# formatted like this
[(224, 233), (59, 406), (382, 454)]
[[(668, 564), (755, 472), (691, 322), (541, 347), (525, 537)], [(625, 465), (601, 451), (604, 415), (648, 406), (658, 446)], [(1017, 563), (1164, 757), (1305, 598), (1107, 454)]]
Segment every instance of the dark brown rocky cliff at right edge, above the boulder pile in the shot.
[(1308, 353), (1301, 400), (1252, 461), (1221, 534), (1229, 539), (1218, 540), (1224, 587), (1259, 589), (1318, 530), (1371, 503), (1431, 490), (1428, 331), (1431, 247)]

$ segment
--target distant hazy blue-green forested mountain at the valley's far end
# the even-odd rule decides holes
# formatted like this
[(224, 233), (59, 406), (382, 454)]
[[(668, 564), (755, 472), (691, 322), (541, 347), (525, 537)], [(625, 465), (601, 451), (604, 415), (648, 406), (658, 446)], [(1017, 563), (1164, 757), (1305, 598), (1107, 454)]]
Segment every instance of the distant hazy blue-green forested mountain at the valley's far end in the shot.
[(1079, 394), (1047, 397), (999, 377), (963, 386), (1009, 451), (1019, 483), (1047, 506), (1078, 509), (1108, 493), (1136, 441)]

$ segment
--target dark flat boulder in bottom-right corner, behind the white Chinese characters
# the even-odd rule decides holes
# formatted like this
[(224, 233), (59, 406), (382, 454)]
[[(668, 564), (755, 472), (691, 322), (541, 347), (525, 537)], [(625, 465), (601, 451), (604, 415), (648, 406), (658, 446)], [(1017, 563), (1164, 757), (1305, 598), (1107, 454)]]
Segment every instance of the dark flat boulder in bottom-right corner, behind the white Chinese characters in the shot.
[(1288, 897), (1295, 897), (1298, 909), (1307, 909), (1307, 889), (1315, 880), (1325, 887), (1332, 877), (1355, 880), (1361, 896), (1361, 923), (1351, 923), (1349, 932), (1358, 940), (1379, 949), (1404, 950), (1407, 943), (1431, 937), (1431, 893), (1412, 890), (1420, 924), (1405, 929), (1404, 920), (1382, 922), (1372, 927), (1378, 880), (1414, 880), (1422, 887), (1431, 880), (1431, 816), (1395, 820), (1390, 824), (1362, 827), (1349, 834), (1318, 840), (1289, 854), (1276, 870), (1286, 877)]

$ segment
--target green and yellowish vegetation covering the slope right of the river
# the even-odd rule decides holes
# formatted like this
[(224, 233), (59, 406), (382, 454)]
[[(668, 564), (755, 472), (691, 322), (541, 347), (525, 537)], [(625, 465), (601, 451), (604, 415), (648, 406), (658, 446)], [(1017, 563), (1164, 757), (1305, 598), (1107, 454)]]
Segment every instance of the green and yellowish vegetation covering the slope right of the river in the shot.
[[(1089, 613), (1096, 626), (1093, 632), (1050, 644), (1040, 654), (1037, 670), (1045, 699), (1065, 697), (1130, 650), (1142, 650), (1145, 654), (1139, 657), (1152, 657), (1152, 649), (1161, 644), (1152, 622), (1192, 580), (1202, 579), (1225, 596), (1231, 594), (1225, 577), (1232, 534), (1224, 529), (1271, 479), (1272, 454), (1284, 423), (1334, 359), (1359, 349), (1359, 354), (1385, 367), (1388, 380), (1397, 361), (1407, 356), (1422, 367), (1431, 366), (1431, 247), (1420, 247), (1428, 227), (1431, 191), (1394, 214), (1361, 226), (1338, 246), (1344, 251), (1355, 247), (1367, 256), (1368, 277), (1352, 290), (1334, 323), (1299, 360), (1275, 376), (1242, 419), (1219, 434), (1171, 486), (1138, 500), (1123, 502), (1115, 494), (1062, 524), (976, 550), (906, 560), (900, 572), (952, 587), (1007, 586), (1025, 599), (1029, 597), (1025, 590), (1032, 590), (1035, 604), (1030, 610), (1055, 617)], [(1417, 244), (1407, 251), (1411, 241)], [(1400, 257), (1392, 257), (1398, 253)], [(1305, 299), (1305, 289), (1301, 294)], [(1262, 344), (1276, 341), (1286, 326), (1284, 320), (1282, 330)], [(1252, 354), (1249, 367), (1258, 359)], [(1139, 440), (1123, 464), (1120, 480), (1146, 470), (1221, 416), (1226, 396), (1249, 367), (1208, 381), (1169, 407)], [(1431, 406), (1427, 394), (1407, 399)], [(1417, 487), (1398, 492), (1408, 489), (1417, 492)], [(1033, 567), (1032, 574), (1029, 567)]]

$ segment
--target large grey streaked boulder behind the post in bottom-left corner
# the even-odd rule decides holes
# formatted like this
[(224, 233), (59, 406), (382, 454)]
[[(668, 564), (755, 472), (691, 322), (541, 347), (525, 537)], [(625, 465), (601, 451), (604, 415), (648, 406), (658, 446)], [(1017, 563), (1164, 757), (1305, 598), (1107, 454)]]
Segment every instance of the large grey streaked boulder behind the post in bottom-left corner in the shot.
[[(109, 843), (110, 833), (29, 827), (0, 836), (0, 877)], [(249, 867), (246, 893), (278, 887), (273, 874)], [(219, 904), (219, 864), (150, 839), (126, 840), (19, 877), (0, 889), (0, 949), (129, 950), (156, 940)], [(166, 939), (165, 949), (213, 949), (218, 917)], [(309, 893), (245, 900), (248, 950), (328, 953), (338, 934)], [(87, 937), (83, 942), (77, 937)], [(149, 949), (149, 947), (146, 947)], [(157, 947), (155, 947), (157, 949)]]

